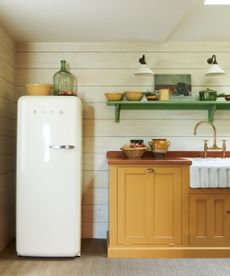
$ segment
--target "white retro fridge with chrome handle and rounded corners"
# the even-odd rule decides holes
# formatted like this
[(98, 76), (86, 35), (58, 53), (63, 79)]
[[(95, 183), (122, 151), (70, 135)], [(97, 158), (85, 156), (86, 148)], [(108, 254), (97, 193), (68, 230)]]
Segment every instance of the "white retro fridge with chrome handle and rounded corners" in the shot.
[(76, 96), (23, 96), (18, 101), (19, 256), (80, 256), (81, 116)]

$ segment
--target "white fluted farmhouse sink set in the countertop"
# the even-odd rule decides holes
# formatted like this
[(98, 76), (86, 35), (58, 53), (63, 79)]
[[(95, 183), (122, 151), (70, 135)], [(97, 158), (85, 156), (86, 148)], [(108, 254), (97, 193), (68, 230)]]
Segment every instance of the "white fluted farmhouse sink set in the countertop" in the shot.
[(187, 158), (191, 188), (230, 188), (230, 158)]

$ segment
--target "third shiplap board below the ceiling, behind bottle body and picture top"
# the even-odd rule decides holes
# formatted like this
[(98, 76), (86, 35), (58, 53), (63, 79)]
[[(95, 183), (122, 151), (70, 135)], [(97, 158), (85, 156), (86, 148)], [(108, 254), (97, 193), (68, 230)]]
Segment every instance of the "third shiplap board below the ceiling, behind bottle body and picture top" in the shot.
[[(152, 85), (153, 77), (146, 79), (146, 76), (135, 76), (135, 69), (71, 69), (71, 73), (77, 77), (78, 85), (93, 85), (93, 86), (125, 86), (125, 85)], [(23, 86), (31, 82), (52, 82), (53, 75), (57, 68), (49, 69), (16, 69), (16, 86)], [(192, 83), (195, 86), (200, 85), (222, 85), (229, 86), (230, 80), (228, 75), (230, 69), (226, 69), (223, 76), (212, 78), (205, 76), (206, 69), (158, 69), (156, 74), (191, 74)]]

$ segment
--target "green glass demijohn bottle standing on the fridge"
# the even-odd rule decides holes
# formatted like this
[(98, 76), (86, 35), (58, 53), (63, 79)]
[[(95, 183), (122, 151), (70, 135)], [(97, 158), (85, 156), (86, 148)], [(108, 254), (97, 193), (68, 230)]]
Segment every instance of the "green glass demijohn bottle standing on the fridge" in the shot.
[(73, 95), (73, 76), (66, 70), (66, 61), (61, 60), (61, 70), (53, 76), (54, 95)]

